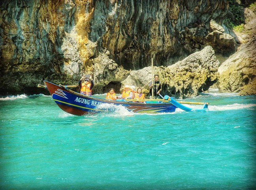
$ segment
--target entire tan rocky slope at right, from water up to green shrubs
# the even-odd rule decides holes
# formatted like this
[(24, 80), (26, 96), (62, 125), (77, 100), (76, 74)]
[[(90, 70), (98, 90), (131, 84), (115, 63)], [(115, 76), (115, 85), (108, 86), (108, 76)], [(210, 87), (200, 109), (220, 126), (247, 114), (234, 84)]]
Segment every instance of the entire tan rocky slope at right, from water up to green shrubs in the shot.
[[(256, 7), (256, 3), (255, 7)], [(236, 32), (241, 44), (237, 52), (223, 62), (218, 71), (217, 87), (220, 92), (239, 92), (240, 95), (256, 94), (256, 10), (245, 9), (243, 32)]]

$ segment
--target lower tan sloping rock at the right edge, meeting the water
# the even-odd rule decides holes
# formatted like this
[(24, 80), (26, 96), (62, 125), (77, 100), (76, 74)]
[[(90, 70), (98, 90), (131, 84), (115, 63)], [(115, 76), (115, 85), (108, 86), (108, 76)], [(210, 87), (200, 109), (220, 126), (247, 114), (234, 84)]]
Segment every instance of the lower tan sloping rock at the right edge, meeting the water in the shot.
[(218, 71), (220, 92), (240, 92), (241, 95), (256, 94), (256, 36), (228, 60), (222, 63)]

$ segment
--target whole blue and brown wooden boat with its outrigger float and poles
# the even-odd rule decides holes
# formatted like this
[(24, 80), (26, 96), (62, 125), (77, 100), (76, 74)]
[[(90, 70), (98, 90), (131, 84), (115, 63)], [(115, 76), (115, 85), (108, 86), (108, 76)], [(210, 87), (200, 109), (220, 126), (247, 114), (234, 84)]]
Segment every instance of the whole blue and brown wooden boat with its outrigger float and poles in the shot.
[(192, 108), (182, 105), (183, 102), (177, 102), (169, 96), (165, 96), (163, 99), (152, 100), (128, 100), (127, 101), (114, 101), (114, 100), (105, 100), (103, 98), (96, 98), (93, 96), (86, 96), (70, 90), (68, 86), (55, 85), (48, 81), (43, 81), (45, 86), (38, 85), (38, 87), (44, 87), (49, 90), (55, 103), (67, 113), (72, 115), (85, 115), (88, 113), (100, 113), (105, 110), (102, 110), (100, 107), (101, 104), (114, 104), (122, 105), (128, 111), (134, 113), (170, 113), (175, 112), (176, 108), (183, 109), (184, 111), (205, 111), (208, 109), (209, 103), (199, 103), (199, 102), (184, 102), (190, 104), (202, 104), (202, 109), (194, 110)]

